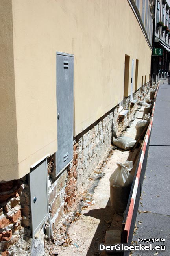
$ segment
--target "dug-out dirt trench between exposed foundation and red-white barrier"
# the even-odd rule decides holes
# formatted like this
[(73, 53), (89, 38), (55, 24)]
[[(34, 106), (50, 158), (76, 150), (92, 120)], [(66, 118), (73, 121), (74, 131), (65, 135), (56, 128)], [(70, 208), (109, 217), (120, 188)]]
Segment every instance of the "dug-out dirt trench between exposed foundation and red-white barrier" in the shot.
[[(150, 89), (152, 90), (152, 88), (147, 88), (143, 97), (140, 98), (140, 105), (121, 136), (137, 138), (135, 126), (144, 116), (146, 106), (142, 106), (142, 102), (150, 97)], [(152, 106), (154, 103), (155, 99), (152, 95)], [(149, 109), (149, 114), (152, 115), (152, 108)], [(107, 253), (99, 251), (99, 244), (122, 242), (120, 234), (124, 215), (116, 214), (111, 207), (109, 178), (117, 168), (116, 163), (124, 163), (127, 160), (133, 161), (133, 169), (130, 173), (132, 176), (135, 175), (149, 124), (148, 121), (131, 150), (123, 150), (111, 145), (107, 158), (93, 171), (81, 192), (78, 193), (76, 202), (61, 217), (61, 221), (54, 230), (53, 242), (46, 242), (45, 255), (105, 256)], [(133, 255), (133, 252), (130, 252), (130, 255)]]

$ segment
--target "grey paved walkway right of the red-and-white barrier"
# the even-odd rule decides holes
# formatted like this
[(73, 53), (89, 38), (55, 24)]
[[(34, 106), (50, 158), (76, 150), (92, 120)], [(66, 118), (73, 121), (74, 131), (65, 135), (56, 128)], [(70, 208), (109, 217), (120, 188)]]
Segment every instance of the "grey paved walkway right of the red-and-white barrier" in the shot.
[[(134, 245), (165, 245), (166, 250), (134, 251), (133, 256), (170, 255), (170, 85), (159, 85), (142, 186)], [(142, 242), (140, 239), (158, 239)], [(165, 242), (161, 241), (165, 239)]]

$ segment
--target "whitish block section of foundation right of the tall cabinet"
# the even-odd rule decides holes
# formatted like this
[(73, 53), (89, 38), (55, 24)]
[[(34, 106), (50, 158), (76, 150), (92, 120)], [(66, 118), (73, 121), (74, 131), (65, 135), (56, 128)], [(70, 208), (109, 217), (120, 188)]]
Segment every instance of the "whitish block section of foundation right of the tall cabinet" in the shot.
[(107, 149), (111, 145), (112, 140), (112, 127), (114, 112), (117, 109), (111, 111), (101, 121), (91, 127), (91, 129), (83, 134), (81, 137), (77, 137), (77, 188), (81, 189), (83, 184), (89, 178), (91, 172), (96, 169), (100, 161), (105, 157)]

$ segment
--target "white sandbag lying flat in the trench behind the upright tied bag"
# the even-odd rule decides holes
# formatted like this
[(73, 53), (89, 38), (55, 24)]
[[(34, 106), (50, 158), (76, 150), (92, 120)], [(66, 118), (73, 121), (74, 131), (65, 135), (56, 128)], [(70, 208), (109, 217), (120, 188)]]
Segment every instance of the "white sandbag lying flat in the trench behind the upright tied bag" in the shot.
[(122, 148), (124, 150), (132, 148), (136, 143), (135, 139), (122, 136), (118, 137), (117, 139), (114, 139), (113, 145), (117, 146), (118, 148)]

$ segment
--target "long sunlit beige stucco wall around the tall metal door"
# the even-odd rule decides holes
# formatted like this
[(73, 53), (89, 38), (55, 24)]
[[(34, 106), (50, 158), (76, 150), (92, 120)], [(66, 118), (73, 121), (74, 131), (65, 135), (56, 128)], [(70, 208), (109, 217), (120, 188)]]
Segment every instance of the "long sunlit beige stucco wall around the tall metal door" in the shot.
[(56, 52), (74, 54), (74, 135), (123, 99), (124, 59), (139, 60), (138, 87), (151, 50), (125, 0), (13, 0), (19, 174), (57, 150)]

